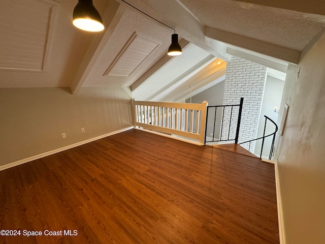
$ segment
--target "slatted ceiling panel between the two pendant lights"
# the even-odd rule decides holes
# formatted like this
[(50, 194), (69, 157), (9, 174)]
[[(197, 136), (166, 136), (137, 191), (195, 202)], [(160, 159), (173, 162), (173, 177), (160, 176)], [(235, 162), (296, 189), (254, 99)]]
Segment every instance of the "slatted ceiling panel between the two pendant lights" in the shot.
[(160, 42), (139, 34), (134, 34), (104, 75), (129, 76)]

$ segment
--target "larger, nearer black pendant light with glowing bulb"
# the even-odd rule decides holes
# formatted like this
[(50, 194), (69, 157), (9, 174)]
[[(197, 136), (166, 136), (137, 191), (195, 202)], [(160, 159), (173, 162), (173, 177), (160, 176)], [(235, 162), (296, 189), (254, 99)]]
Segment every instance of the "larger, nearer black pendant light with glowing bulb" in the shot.
[(88, 32), (100, 32), (104, 29), (103, 20), (92, 4), (92, 0), (78, 0), (73, 10), (73, 24)]

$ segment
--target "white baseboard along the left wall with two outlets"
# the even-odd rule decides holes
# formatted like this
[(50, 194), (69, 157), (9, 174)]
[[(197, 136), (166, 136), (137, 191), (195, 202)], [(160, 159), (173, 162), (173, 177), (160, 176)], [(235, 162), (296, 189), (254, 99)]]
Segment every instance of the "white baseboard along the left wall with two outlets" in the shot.
[(114, 132), (111, 132), (111, 133), (108, 133), (108, 134), (105, 134), (105, 135), (90, 138), (90, 139), (85, 140), (85, 141), (77, 142), (77, 143), (74, 143), (74, 144), (71, 144), (71, 145), (68, 145), (68, 146), (64, 146), (64, 147), (57, 148), (57, 149), (54, 149), (54, 150), (51, 150), (51, 151), (47, 151), (46, 153), (35, 155), (35, 156), (29, 157), (27, 159), (22, 159), (22, 160), (13, 162), (13, 163), (9, 163), (9, 164), (0, 166), (0, 171), (15, 167), (15, 166), (18, 166), (18, 165), (21, 165), (21, 164), (28, 163), (28, 162), (33, 161), (33, 160), (41, 159), (41, 158), (44, 158), (44, 157), (52, 155), (52, 154), (60, 153), (60, 151), (65, 151), (65, 150), (74, 148), (76, 146), (80, 146), (80, 145), (83, 145), (83, 144), (86, 144), (86, 143), (89, 143), (89, 142), (92, 142), (92, 141), (95, 141), (95, 140), (102, 139), (104, 137), (108, 137), (108, 136), (112, 136), (112, 135), (121, 133), (123, 131), (131, 130), (131, 129), (133, 129), (133, 127), (128, 127), (128, 128), (122, 129), (122, 130), (114, 131)]

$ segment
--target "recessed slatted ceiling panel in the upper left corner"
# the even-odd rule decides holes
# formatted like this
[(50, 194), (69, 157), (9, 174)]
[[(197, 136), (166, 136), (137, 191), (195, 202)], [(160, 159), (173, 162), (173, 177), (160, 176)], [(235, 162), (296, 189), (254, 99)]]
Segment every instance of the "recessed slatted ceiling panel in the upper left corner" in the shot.
[(53, 8), (58, 4), (51, 2), (0, 1), (0, 69), (43, 70)]

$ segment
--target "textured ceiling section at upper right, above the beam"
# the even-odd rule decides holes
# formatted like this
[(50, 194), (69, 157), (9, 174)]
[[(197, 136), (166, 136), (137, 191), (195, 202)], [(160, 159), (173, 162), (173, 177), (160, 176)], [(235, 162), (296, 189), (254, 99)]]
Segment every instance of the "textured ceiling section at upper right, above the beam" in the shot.
[(325, 16), (229, 0), (181, 0), (207, 26), (302, 50), (322, 28)]

